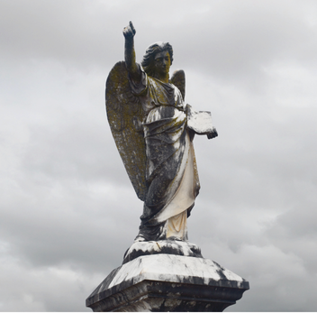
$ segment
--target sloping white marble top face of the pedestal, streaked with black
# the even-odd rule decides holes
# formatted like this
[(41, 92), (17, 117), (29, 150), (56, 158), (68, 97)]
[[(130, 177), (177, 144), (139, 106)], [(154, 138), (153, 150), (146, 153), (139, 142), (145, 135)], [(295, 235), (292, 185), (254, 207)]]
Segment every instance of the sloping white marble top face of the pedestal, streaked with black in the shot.
[(145, 255), (123, 264), (113, 277), (108, 288), (124, 281), (170, 281), (177, 283), (195, 283), (194, 278), (200, 278), (202, 284), (228, 280), (236, 281), (238, 287), (244, 281), (239, 275), (222, 268), (216, 262), (208, 259), (187, 257), (172, 254)]

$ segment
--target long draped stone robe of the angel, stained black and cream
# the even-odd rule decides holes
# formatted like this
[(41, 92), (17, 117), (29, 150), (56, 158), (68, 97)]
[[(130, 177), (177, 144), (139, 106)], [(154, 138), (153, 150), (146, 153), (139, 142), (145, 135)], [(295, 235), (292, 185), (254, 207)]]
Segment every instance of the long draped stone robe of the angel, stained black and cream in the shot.
[(140, 82), (130, 79), (130, 85), (147, 116), (143, 131), (149, 189), (136, 240), (186, 240), (186, 218), (200, 185), (183, 97), (176, 86), (143, 70)]

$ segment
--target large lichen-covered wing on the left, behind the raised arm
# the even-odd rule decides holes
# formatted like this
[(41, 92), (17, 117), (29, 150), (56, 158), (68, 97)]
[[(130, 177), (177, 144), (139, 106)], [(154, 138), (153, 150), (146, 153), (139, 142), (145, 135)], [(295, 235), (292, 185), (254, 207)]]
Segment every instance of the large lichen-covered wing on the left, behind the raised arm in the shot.
[(143, 110), (129, 86), (124, 61), (110, 71), (105, 87), (105, 107), (114, 142), (135, 192), (144, 201), (147, 193), (146, 154), (142, 124)]

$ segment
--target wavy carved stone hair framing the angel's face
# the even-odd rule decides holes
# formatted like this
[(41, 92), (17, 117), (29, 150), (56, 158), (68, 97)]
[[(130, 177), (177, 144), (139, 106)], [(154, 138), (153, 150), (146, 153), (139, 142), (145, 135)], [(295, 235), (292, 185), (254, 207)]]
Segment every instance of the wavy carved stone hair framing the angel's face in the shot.
[(149, 46), (147, 51), (143, 56), (143, 60), (140, 62), (141, 66), (145, 70), (145, 72), (151, 76), (155, 77), (155, 68), (154, 68), (154, 60), (155, 56), (160, 51), (168, 51), (170, 64), (173, 62), (173, 48), (168, 42), (155, 42)]

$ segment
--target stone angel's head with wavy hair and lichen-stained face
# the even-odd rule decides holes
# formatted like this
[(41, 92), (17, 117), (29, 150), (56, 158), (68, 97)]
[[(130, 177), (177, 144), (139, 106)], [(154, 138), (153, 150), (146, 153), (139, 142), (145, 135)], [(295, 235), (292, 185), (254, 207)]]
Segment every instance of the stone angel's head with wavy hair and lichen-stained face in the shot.
[(145, 72), (151, 76), (156, 77), (158, 71), (169, 71), (169, 67), (173, 62), (173, 48), (168, 42), (155, 42), (149, 46), (141, 65)]

